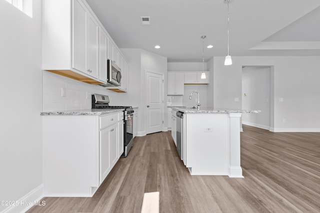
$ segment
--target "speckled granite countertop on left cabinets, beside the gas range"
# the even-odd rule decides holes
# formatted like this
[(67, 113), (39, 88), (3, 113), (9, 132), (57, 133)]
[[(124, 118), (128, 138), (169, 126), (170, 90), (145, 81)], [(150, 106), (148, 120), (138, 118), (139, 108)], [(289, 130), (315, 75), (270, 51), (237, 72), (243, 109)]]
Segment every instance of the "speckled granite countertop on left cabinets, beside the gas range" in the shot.
[(40, 115), (106, 115), (114, 112), (122, 112), (124, 109), (80, 109), (62, 110), (54, 112), (41, 112)]

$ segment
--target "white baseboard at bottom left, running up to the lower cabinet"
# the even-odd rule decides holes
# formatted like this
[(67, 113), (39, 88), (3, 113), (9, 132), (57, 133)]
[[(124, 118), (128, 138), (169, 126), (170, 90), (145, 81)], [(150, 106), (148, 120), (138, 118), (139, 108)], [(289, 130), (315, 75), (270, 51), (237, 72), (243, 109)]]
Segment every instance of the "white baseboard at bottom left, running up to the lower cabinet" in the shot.
[(16, 201), (16, 206), (10, 206), (2, 213), (24, 213), (33, 206), (44, 206), (39, 202), (43, 198), (43, 184)]

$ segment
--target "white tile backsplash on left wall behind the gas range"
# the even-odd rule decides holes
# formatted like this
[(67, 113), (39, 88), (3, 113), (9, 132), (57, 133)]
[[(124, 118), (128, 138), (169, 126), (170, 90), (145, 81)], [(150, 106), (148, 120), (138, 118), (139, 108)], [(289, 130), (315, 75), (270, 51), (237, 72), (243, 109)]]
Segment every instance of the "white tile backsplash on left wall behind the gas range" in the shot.
[[(64, 90), (64, 94), (62, 94)], [(98, 85), (42, 71), (42, 111), (77, 110), (91, 108), (91, 94), (109, 95)]]

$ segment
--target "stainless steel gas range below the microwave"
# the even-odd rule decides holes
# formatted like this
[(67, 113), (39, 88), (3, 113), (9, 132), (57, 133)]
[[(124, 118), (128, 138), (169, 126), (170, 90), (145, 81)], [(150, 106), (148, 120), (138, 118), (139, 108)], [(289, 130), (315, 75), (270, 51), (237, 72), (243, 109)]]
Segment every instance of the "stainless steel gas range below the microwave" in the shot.
[(124, 109), (123, 111), (123, 157), (126, 157), (133, 144), (133, 113), (132, 106), (109, 106), (107, 95), (92, 94), (92, 109)]

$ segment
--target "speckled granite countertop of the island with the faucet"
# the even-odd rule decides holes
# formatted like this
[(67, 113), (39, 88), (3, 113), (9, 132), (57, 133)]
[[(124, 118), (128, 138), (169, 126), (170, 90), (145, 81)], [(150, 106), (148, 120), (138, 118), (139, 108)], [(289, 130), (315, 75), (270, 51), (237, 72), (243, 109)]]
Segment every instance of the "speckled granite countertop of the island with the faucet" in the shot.
[(260, 113), (261, 110), (245, 110), (245, 109), (218, 109), (218, 108), (179, 108), (173, 107), (175, 111), (180, 111), (183, 113)]

